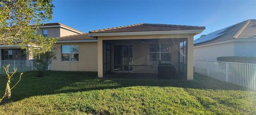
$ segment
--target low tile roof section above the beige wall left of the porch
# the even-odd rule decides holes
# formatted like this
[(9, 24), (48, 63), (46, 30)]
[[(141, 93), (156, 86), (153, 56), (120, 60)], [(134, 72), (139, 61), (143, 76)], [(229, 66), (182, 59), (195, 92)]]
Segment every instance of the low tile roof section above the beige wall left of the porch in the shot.
[(63, 36), (63, 37), (58, 38), (58, 41), (61, 41), (61, 40), (86, 40), (86, 39), (94, 39), (94, 38), (91, 37), (88, 33), (84, 33), (84, 34)]

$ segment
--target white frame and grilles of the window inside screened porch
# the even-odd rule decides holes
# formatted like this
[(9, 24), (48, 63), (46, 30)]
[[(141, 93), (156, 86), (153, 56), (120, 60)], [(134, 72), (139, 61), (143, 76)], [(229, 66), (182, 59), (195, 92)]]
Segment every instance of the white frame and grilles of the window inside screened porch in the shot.
[[(164, 43), (164, 44), (168, 44), (168, 43)], [(161, 60), (161, 62), (171, 62), (172, 60), (170, 59), (170, 61), (162, 61), (162, 57), (161, 57), (161, 54), (162, 53), (171, 53), (171, 51), (170, 52), (162, 52), (162, 45), (164, 45), (164, 44), (149, 44), (149, 48), (150, 48), (150, 45), (158, 45), (158, 47), (159, 47), (159, 52), (150, 52), (150, 49), (149, 49), (149, 62), (156, 62), (156, 61), (159, 61), (159, 60)], [(171, 46), (171, 44), (169, 44), (170, 46)], [(156, 60), (156, 61), (151, 61), (150, 60), (150, 53), (156, 53), (157, 55), (159, 55), (159, 60)], [(172, 55), (172, 53), (171, 53), (171, 55)], [(157, 56), (156, 56), (156, 59), (157, 59)]]

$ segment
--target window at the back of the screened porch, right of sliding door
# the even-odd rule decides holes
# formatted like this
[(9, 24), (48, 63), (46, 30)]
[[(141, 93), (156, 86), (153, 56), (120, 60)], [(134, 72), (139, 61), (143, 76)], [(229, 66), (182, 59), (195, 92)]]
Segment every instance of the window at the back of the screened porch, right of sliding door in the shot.
[(171, 61), (171, 44), (150, 44), (150, 61)]

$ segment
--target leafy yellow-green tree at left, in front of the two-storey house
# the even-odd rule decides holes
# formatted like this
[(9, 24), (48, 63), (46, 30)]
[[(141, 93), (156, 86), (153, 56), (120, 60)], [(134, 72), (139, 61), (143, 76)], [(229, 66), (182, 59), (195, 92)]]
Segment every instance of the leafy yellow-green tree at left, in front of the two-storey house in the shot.
[(0, 2), (0, 44), (19, 45), (32, 54), (40, 76), (45, 75), (45, 62), (54, 59), (52, 46), (57, 40), (35, 31), (42, 22), (52, 19), (53, 7), (52, 0)]

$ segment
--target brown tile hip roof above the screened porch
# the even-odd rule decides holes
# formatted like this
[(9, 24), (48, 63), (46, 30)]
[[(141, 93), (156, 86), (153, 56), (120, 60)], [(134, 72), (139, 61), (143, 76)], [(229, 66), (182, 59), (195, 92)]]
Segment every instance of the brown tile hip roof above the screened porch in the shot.
[(100, 30), (89, 31), (89, 33), (103, 33), (103, 32), (132, 32), (132, 31), (161, 31), (161, 30), (193, 30), (205, 29), (205, 27), (198, 26), (184, 26), (175, 24), (151, 24), (151, 23), (138, 23), (129, 26), (105, 28)]

